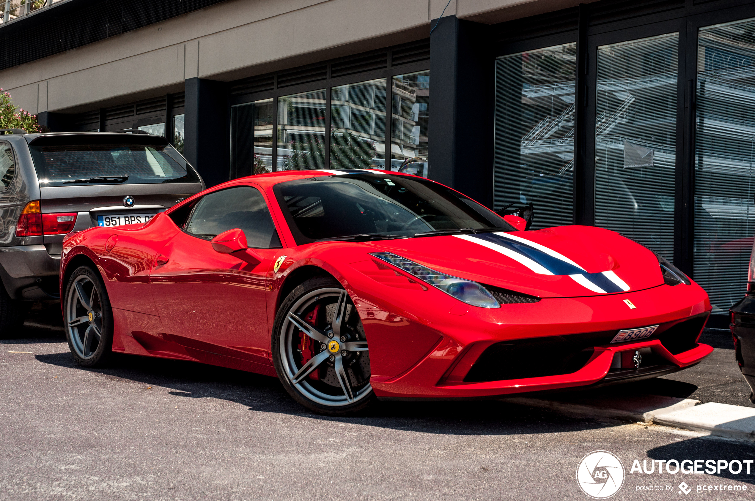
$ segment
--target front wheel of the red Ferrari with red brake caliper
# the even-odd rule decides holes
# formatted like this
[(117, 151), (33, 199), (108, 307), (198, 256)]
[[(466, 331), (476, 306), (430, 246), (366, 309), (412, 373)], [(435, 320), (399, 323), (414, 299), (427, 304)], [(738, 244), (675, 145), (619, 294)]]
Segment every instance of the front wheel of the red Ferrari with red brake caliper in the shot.
[(283, 387), (304, 407), (344, 416), (374, 402), (362, 321), (334, 278), (310, 278), (288, 294), (270, 346)]

